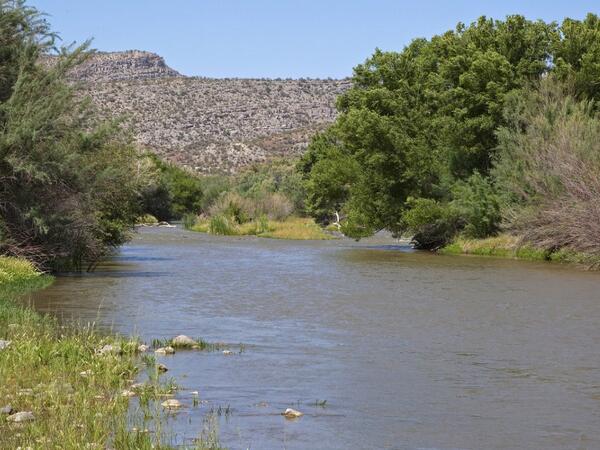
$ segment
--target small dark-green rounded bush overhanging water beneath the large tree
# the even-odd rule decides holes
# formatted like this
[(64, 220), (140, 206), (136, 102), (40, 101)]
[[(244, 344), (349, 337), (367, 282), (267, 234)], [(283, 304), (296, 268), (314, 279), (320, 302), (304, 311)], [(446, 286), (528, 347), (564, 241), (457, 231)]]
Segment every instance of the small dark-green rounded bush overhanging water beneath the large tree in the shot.
[(429, 198), (420, 198), (410, 203), (411, 208), (403, 215), (403, 226), (413, 234), (417, 248), (443, 247), (460, 229), (459, 213), (451, 205)]

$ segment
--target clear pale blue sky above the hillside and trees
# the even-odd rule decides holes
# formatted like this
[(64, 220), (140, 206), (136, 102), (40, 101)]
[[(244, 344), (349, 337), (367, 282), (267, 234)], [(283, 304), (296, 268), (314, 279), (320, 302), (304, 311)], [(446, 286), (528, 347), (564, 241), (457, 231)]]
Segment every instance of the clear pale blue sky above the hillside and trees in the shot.
[(376, 47), (401, 50), (481, 15), (561, 21), (599, 0), (29, 0), (64, 43), (148, 50), (186, 75), (345, 77)]

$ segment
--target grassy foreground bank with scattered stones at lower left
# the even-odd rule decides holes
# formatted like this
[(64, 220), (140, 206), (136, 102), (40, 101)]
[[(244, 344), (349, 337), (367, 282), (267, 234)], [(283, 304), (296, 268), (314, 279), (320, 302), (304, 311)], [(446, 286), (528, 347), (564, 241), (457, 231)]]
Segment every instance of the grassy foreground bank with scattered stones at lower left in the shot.
[[(10, 342), (0, 349), (0, 408), (13, 409), (12, 415), (0, 413), (0, 448), (170, 448), (157, 444), (163, 415), (153, 400), (171, 384), (158, 381), (153, 358), (145, 358), (150, 380), (139, 393), (145, 407), (128, 415), (124, 393), (142, 365), (138, 342), (61, 326), (16, 302), (50, 283), (52, 277), (28, 262), (0, 257), (0, 340)], [(32, 420), (15, 423), (14, 412), (30, 412)], [(148, 416), (154, 433), (132, 430), (134, 424), (143, 430)], [(216, 447), (213, 442), (194, 448)]]

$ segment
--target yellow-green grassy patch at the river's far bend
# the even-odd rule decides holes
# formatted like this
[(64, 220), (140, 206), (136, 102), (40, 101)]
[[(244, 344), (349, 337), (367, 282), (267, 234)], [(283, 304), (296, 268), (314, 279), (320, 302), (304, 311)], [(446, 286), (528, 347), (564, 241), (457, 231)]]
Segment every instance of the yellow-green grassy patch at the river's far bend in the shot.
[(238, 224), (226, 216), (198, 219), (188, 227), (192, 231), (221, 236), (257, 236), (271, 239), (326, 240), (333, 235), (325, 232), (313, 219), (289, 217), (285, 220), (260, 218)]

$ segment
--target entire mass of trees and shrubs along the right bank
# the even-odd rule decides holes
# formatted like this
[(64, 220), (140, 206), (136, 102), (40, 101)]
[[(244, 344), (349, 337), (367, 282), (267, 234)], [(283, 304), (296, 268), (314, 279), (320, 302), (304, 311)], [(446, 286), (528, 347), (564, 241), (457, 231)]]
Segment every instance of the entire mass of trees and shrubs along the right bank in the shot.
[[(508, 229), (547, 250), (597, 241), (600, 19), (480, 18), (354, 70), (299, 163), (306, 208), (347, 235), (438, 248)], [(595, 237), (593, 237), (595, 236)]]

